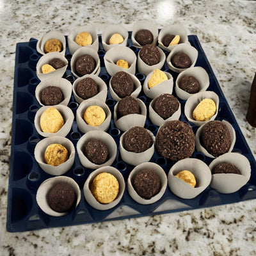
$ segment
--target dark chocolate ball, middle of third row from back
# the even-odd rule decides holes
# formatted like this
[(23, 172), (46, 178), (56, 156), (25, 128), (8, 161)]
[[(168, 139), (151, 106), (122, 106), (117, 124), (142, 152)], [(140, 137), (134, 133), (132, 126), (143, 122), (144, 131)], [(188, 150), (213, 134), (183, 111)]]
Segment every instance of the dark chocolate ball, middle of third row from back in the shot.
[(134, 82), (132, 77), (124, 71), (117, 72), (111, 78), (111, 86), (120, 98), (130, 96), (134, 91)]

